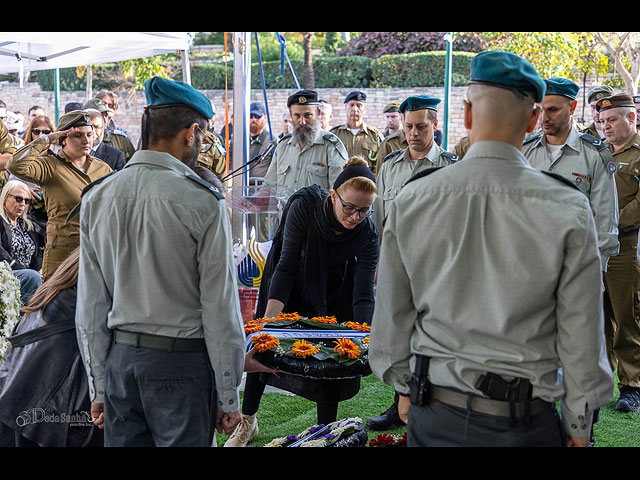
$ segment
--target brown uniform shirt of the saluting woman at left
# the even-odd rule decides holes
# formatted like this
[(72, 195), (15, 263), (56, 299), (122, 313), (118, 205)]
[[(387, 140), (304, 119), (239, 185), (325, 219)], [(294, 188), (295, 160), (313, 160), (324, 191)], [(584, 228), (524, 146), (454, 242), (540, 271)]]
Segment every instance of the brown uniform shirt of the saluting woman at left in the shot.
[(46, 140), (36, 138), (16, 151), (7, 163), (7, 170), (21, 180), (42, 188), (48, 216), (47, 244), (78, 245), (78, 217), (65, 223), (67, 215), (80, 203), (82, 189), (112, 170), (102, 160), (91, 157), (89, 168), (83, 172), (67, 158), (63, 150), (54, 154), (49, 148)]

